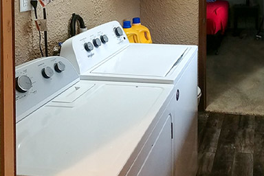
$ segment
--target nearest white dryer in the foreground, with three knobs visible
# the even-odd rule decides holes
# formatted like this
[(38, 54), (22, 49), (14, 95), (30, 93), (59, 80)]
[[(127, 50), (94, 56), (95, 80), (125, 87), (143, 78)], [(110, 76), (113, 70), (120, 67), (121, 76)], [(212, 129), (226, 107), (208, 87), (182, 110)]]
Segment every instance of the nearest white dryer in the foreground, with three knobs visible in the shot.
[(17, 175), (173, 175), (173, 85), (80, 80), (59, 56), (16, 78)]

